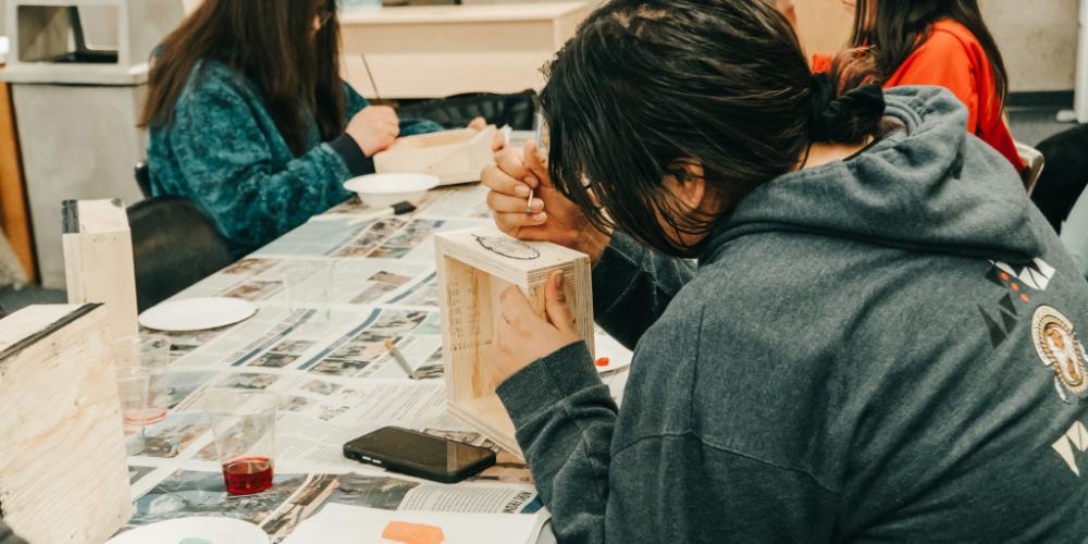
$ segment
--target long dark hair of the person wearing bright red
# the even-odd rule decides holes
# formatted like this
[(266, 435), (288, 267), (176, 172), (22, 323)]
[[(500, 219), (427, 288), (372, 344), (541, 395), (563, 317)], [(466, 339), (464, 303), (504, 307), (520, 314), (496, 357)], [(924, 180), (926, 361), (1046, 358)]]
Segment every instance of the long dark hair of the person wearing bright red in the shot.
[(998, 42), (982, 21), (978, 0), (857, 0), (850, 42), (855, 48), (873, 46), (869, 54), (876, 64), (875, 75), (883, 83), (929, 37), (934, 23), (942, 20), (960, 23), (981, 44), (1003, 108), (1009, 73)]

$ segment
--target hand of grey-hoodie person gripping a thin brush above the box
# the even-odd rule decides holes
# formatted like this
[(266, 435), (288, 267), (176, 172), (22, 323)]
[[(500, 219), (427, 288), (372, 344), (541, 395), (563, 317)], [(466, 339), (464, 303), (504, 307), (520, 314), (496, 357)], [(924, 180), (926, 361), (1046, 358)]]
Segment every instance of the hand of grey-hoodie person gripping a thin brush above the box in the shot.
[(480, 177), (491, 189), (487, 207), (495, 212), (500, 231), (576, 249), (594, 263), (601, 259), (611, 235), (597, 231), (578, 206), (556, 190), (535, 143), (527, 144), (520, 153), (515, 149), (497, 153), (495, 161)]

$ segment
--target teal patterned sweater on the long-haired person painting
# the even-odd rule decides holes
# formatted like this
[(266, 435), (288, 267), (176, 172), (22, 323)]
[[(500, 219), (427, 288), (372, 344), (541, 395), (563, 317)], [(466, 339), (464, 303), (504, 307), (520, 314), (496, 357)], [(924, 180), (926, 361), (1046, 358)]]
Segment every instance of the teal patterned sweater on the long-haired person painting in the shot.
[[(345, 121), (367, 100), (344, 83)], [(441, 129), (430, 121), (401, 121), (401, 134)], [(240, 257), (351, 196), (348, 178), (373, 172), (350, 136), (321, 141), (316, 123), (308, 151), (295, 156), (263, 100), (244, 77), (201, 63), (174, 104), (173, 122), (152, 127), (148, 165), (154, 196), (194, 201)]]

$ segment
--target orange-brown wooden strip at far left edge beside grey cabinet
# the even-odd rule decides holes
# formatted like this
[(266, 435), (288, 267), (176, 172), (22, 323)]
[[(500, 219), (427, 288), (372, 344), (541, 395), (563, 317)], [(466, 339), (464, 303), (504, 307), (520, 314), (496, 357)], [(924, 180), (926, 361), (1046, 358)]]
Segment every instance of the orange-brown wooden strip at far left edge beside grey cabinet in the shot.
[[(3, 66), (0, 65), (0, 69)], [(15, 132), (15, 110), (7, 84), (0, 83), (0, 227), (30, 282), (37, 281), (26, 185)]]

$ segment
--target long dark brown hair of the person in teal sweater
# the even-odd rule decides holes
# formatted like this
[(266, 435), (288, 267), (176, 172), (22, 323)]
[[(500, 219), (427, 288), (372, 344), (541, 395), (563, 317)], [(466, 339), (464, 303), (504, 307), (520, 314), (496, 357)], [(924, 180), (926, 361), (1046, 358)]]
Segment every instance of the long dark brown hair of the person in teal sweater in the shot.
[(210, 60), (257, 88), (296, 156), (307, 151), (307, 115), (323, 140), (344, 131), (335, 0), (203, 0), (152, 59), (140, 126), (170, 125), (193, 70)]

